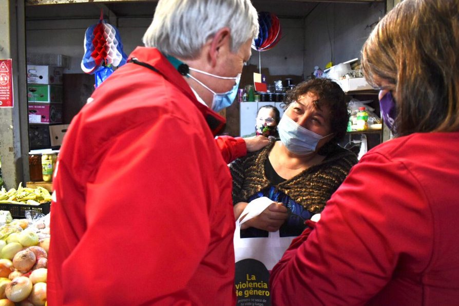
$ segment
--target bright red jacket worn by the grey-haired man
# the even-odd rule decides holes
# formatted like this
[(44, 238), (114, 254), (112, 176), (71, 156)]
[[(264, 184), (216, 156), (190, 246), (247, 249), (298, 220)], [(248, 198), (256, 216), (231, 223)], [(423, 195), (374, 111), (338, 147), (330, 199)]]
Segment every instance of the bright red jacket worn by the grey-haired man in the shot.
[[(62, 146), (48, 304), (234, 305), (230, 171), (200, 104), (153, 48), (97, 90)], [(207, 120), (207, 122), (206, 122)]]

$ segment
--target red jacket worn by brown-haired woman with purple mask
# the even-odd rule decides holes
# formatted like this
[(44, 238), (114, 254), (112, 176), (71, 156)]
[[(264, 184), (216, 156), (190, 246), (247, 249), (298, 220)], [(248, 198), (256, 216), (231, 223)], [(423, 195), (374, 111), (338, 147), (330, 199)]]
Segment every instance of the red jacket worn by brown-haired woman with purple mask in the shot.
[(457, 305), (459, 132), (369, 151), (271, 276), (273, 305)]

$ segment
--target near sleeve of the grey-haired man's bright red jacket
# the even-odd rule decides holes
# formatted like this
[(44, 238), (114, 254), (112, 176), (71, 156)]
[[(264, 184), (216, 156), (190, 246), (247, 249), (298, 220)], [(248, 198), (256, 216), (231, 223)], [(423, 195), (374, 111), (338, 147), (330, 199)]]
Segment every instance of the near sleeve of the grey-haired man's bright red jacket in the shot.
[(104, 145), (86, 183), (87, 232), (63, 265), (64, 301), (189, 304), (210, 241), (213, 138), (164, 115)]

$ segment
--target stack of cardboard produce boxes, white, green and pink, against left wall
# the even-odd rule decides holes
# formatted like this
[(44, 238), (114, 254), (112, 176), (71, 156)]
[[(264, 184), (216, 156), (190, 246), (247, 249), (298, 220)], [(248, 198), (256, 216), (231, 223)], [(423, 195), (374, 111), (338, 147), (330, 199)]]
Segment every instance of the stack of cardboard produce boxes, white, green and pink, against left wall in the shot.
[(62, 67), (27, 65), (30, 149), (50, 148), (49, 125), (62, 123)]

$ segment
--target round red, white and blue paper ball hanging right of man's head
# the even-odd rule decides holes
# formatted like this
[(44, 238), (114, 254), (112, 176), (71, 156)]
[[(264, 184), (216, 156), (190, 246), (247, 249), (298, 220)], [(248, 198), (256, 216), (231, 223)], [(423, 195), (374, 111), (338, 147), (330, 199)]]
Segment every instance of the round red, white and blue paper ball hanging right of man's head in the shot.
[(280, 40), (282, 27), (279, 18), (270, 12), (258, 12), (259, 32), (258, 37), (252, 41), (252, 48), (257, 51), (267, 51)]

